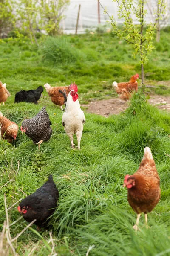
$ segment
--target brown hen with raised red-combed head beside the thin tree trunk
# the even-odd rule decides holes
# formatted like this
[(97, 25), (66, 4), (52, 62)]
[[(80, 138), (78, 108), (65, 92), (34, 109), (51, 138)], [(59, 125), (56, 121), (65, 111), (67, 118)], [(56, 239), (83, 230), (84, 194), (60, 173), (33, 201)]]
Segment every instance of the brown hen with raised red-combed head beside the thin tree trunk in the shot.
[(127, 100), (130, 98), (133, 91), (138, 91), (138, 82), (136, 79), (139, 78), (139, 75), (136, 74), (130, 78), (129, 82), (116, 83), (113, 82), (113, 87), (115, 87), (116, 93), (120, 99)]

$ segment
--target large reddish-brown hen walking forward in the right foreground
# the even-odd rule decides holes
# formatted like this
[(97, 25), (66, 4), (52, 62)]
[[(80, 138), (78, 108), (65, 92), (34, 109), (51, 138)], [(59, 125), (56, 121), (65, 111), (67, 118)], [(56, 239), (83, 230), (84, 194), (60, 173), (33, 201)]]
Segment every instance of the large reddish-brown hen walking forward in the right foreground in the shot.
[(144, 212), (146, 226), (147, 213), (151, 212), (159, 202), (161, 197), (159, 175), (149, 147), (144, 148), (144, 157), (137, 172), (133, 175), (126, 175), (124, 187), (127, 187), (127, 199), (133, 211), (137, 213), (136, 224), (138, 229), (139, 218)]

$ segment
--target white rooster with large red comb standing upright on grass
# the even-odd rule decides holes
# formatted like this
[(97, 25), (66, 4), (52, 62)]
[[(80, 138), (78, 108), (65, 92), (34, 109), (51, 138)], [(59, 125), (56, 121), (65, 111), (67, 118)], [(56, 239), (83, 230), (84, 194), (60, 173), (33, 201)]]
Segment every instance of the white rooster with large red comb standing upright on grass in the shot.
[(83, 124), (85, 123), (84, 112), (80, 108), (78, 101), (77, 84), (70, 85), (70, 92), (67, 96), (65, 112), (62, 116), (62, 125), (66, 134), (71, 140), (71, 148), (74, 149), (73, 135), (76, 134), (78, 141), (78, 149), (80, 149), (80, 141), (82, 137)]

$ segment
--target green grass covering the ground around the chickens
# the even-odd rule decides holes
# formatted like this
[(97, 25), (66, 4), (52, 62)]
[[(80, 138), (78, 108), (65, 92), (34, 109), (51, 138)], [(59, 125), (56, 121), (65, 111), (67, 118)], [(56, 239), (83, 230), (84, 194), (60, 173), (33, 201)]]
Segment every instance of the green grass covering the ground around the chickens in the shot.
[[(85, 112), (81, 150), (73, 151), (62, 127), (62, 111), (51, 103), (46, 92), (38, 105), (14, 104), (18, 90), (36, 88), (46, 82), (54, 86), (76, 81), (81, 102), (105, 98), (109, 93), (113, 96), (114, 80), (126, 81), (140, 71), (130, 57), (130, 46), (119, 44), (113, 35), (68, 38), (85, 55), (84, 61), (47, 64), (41, 50), (28, 41), (0, 43), (0, 80), (7, 83), (12, 95), (0, 111), (20, 126), (24, 118), (31, 118), (46, 105), (53, 129), (51, 139), (40, 146), (40, 151), (20, 131), (12, 145), (0, 142), (0, 187), (11, 180), (1, 188), (0, 227), (6, 219), (3, 194), (6, 193), (9, 207), (25, 197), (23, 192), (26, 195), (35, 192), (52, 174), (59, 189), (59, 205), (51, 218), (59, 256), (82, 256), (92, 245), (89, 256), (170, 255), (170, 157), (165, 155), (170, 154), (168, 113), (149, 105), (140, 95), (134, 95), (130, 108), (118, 116), (105, 118)], [(162, 32), (162, 41), (168, 38)], [(146, 67), (146, 77), (153, 84), (170, 79), (168, 52), (168, 48), (166, 52), (161, 48), (150, 56), (152, 64)], [(155, 63), (154, 58), (157, 58)], [(161, 87), (158, 89), (161, 93)], [(138, 169), (145, 146), (150, 146), (159, 172), (161, 200), (148, 216), (150, 229), (144, 227), (141, 218), (141, 232), (136, 235), (132, 229), (136, 215), (122, 185), (124, 176)], [(14, 177), (18, 161), (19, 172)], [(19, 217), (17, 207), (10, 216), (11, 221)], [(11, 227), (11, 236), (16, 236), (26, 225), (23, 219), (18, 221)], [(52, 255), (49, 239), (49, 232), (37, 233), (33, 225), (17, 239), (14, 247), (20, 256), (28, 256), (34, 247), (31, 255), (48, 256)]]

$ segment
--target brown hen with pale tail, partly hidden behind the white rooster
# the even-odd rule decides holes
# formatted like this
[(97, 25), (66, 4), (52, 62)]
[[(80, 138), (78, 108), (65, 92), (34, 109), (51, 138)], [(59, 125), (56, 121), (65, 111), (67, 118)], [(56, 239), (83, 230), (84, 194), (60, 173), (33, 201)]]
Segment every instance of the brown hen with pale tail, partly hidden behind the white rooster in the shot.
[(64, 105), (64, 96), (62, 93), (59, 93), (59, 90), (65, 89), (66, 95), (70, 92), (69, 86), (59, 86), (59, 87), (51, 87), (49, 84), (44, 85), (46, 92), (51, 97), (51, 101), (60, 106), (61, 110), (63, 110), (62, 105)]

